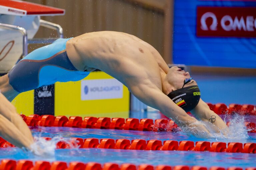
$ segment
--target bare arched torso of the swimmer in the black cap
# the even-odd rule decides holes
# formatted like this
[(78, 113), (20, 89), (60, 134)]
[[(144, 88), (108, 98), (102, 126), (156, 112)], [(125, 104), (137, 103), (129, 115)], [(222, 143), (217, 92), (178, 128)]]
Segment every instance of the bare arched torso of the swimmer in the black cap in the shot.
[[(162, 90), (159, 62), (155, 56), (160, 54), (135, 36), (111, 31), (93, 32), (69, 40), (66, 47), (71, 62), (79, 71), (97, 68), (128, 88), (148, 81)], [(165, 69), (168, 69), (166, 63)]]

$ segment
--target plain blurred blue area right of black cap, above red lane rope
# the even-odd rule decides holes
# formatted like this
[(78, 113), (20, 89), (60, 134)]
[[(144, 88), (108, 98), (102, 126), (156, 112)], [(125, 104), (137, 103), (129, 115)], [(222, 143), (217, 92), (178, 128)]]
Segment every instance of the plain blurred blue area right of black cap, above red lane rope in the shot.
[(256, 105), (255, 76), (191, 74), (201, 91), (201, 98), (212, 104)]

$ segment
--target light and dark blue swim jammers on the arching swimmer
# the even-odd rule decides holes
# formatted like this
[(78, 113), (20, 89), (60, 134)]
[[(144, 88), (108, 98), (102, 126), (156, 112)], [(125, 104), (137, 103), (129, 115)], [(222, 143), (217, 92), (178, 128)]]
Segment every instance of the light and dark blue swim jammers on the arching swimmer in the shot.
[(78, 71), (69, 60), (66, 42), (58, 39), (38, 48), (20, 60), (9, 72), (9, 83), (17, 92), (25, 92), (55, 82), (78, 81), (90, 72)]

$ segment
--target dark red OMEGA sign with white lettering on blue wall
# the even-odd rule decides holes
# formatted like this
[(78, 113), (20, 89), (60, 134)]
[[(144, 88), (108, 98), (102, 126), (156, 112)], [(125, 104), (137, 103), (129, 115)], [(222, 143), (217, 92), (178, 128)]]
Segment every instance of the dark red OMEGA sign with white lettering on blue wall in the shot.
[(197, 7), (197, 36), (256, 37), (256, 7)]

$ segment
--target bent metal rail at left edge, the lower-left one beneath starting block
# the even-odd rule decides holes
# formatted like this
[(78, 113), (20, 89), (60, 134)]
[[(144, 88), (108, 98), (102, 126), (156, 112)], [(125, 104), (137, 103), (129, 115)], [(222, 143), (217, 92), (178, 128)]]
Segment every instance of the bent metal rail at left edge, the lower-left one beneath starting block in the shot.
[(10, 24), (3, 24), (0, 23), (0, 28), (19, 31), (23, 36), (23, 50), (22, 50), (22, 57), (25, 57), (28, 54), (28, 38), (27, 38), (27, 31), (19, 26), (10, 25)]

